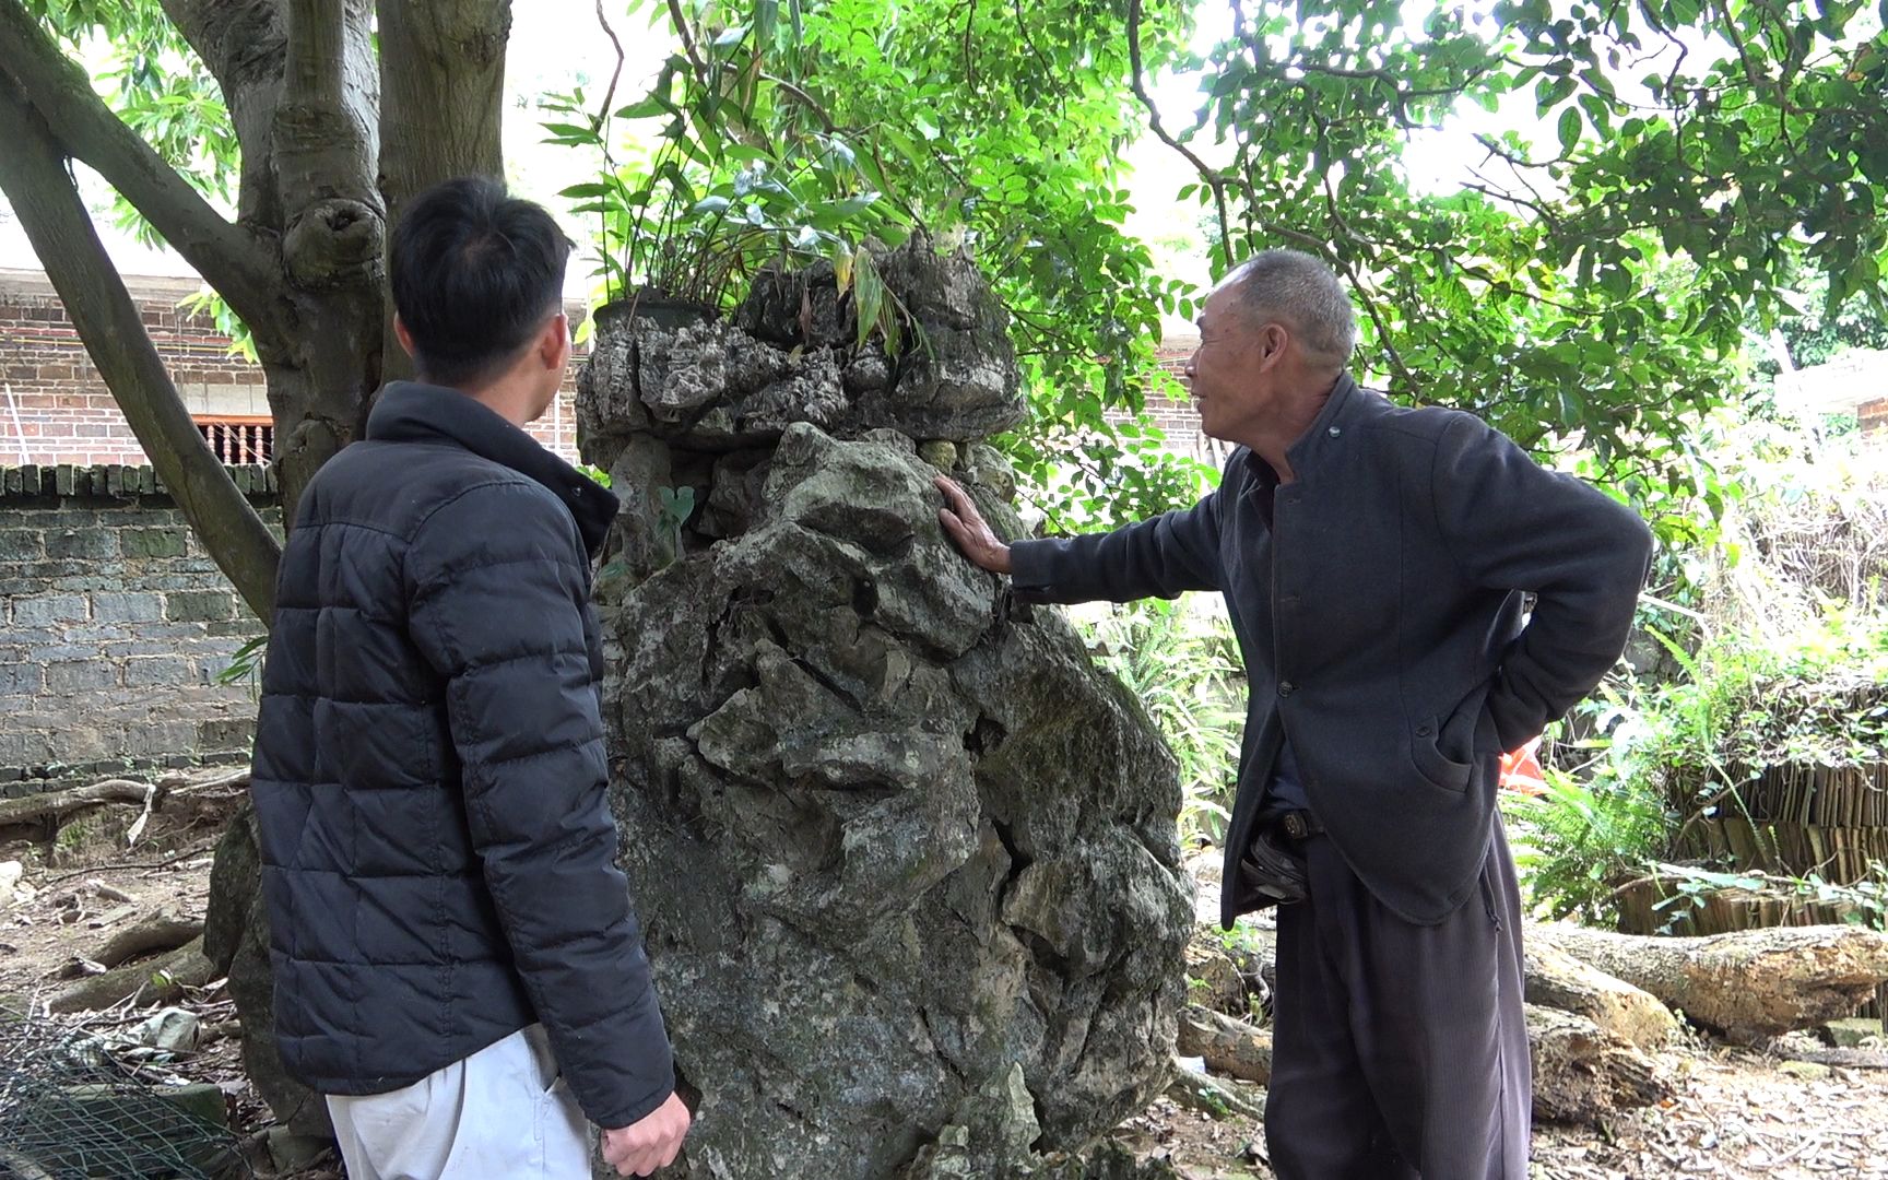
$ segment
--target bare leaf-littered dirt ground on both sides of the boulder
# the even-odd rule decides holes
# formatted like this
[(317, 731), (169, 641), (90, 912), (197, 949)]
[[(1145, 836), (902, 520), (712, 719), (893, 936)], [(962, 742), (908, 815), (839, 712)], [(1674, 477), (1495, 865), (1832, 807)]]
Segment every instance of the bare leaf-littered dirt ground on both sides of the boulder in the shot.
[[(159, 816), (130, 850), (123, 846), (123, 816), (94, 825), (85, 840), (60, 840), (51, 853), (32, 842), (0, 846), (0, 861), (23, 861), (25, 884), (34, 889), (30, 899), (0, 908), (0, 997), (45, 999), (68, 982), (62, 976), (77, 957), (151, 910), (200, 916), (213, 838), (232, 802), (204, 801)], [(208, 1037), (174, 1069), (221, 1086), (238, 1133), (266, 1125), (268, 1112), (242, 1074), (242, 1031), (221, 982), (183, 1006), (200, 1014)], [(74, 1020), (111, 1031), (142, 1018), (125, 1008)], [(1807, 1065), (1703, 1038), (1667, 1050), (1663, 1059), (1678, 1078), (1677, 1097), (1665, 1106), (1599, 1127), (1537, 1127), (1535, 1180), (1888, 1180), (1888, 1070)], [(1263, 1101), (1263, 1089), (1246, 1089)], [(1189, 1180), (1273, 1176), (1254, 1120), (1214, 1120), (1171, 1099), (1125, 1121), (1116, 1138), (1140, 1155), (1167, 1159)], [(321, 1163), (296, 1174), (338, 1176)]]

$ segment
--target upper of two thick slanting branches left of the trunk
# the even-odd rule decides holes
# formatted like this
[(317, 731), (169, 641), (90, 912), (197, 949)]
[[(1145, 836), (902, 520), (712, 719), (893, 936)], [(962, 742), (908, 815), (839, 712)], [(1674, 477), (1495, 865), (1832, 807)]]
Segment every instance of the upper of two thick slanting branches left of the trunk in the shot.
[(93, 93), (91, 81), (19, 0), (0, 0), (0, 74), (59, 142), (89, 164), (264, 338), (276, 332), (268, 249), (230, 225)]

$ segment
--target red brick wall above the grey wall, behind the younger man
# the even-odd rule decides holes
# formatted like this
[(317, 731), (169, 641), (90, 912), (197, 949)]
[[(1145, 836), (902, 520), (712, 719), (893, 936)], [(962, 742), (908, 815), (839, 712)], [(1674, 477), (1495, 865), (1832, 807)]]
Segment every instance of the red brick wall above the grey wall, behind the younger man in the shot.
[[(177, 387), (257, 387), (262, 370), (230, 355), (208, 315), (177, 306), (200, 287), (193, 279), (128, 278), (145, 330)], [(582, 308), (572, 306), (572, 327)], [(532, 434), (576, 459), (576, 362), (565, 391)], [(43, 276), (0, 270), (0, 464), (145, 463), (117, 402)]]

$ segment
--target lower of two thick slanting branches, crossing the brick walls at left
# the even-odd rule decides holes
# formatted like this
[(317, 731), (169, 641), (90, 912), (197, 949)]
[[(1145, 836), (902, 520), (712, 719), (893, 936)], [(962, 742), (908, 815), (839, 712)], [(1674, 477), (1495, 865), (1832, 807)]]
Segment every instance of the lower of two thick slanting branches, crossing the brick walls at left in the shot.
[(244, 602), (268, 621), (281, 549), (183, 408), (138, 306), (98, 242), (51, 128), (4, 77), (0, 125), (8, 128), (0, 191), (13, 204), (72, 327), (185, 519), (208, 542)]

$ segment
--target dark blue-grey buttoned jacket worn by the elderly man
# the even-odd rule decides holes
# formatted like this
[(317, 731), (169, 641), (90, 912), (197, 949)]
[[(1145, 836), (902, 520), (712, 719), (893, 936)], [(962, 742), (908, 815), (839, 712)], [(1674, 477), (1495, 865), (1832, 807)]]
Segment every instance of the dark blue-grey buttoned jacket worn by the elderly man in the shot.
[[(1618, 659), (1644, 523), (1542, 470), (1482, 421), (1403, 410), (1340, 378), (1291, 446), (1293, 483), (1244, 447), (1186, 512), (1012, 548), (1025, 598), (1218, 589), (1250, 682), (1222, 919), (1278, 755), (1386, 906), (1435, 923), (1471, 897), (1499, 759)], [(1267, 521), (1265, 500), (1273, 500)], [(1522, 629), (1522, 597), (1539, 600)]]

